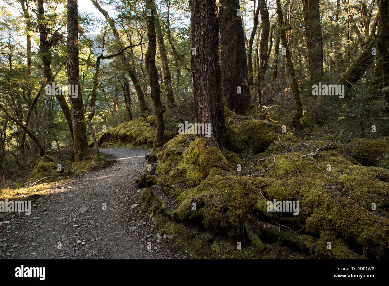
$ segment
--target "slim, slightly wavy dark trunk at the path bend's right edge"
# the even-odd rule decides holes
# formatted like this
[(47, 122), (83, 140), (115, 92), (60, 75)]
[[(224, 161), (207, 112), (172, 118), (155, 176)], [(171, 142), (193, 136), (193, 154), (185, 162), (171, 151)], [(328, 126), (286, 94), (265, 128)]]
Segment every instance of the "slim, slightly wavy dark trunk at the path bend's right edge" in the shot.
[[(149, 84), (151, 87), (151, 99), (154, 104), (154, 111), (157, 118), (157, 132), (154, 143), (152, 145), (153, 150), (163, 146), (163, 132), (165, 131), (165, 124), (163, 123), (163, 112), (165, 112), (165, 106), (161, 103), (161, 91), (158, 83), (158, 71), (155, 66), (155, 52), (156, 52), (156, 32), (155, 32), (155, 5), (154, 1), (146, 0), (146, 11), (151, 9), (151, 16), (147, 16), (147, 37), (149, 38), (149, 44), (147, 45), (147, 51), (145, 54), (145, 63), (147, 74), (149, 75)], [(147, 12), (146, 12), (147, 13)]]

